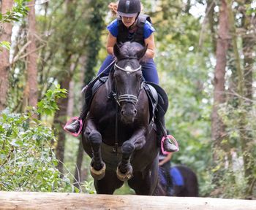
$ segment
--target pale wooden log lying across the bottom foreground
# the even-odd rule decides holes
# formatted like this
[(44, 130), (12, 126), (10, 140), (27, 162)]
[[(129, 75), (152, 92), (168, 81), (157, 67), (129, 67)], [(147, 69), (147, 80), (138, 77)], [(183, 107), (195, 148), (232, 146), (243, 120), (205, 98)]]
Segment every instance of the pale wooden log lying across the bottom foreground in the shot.
[(255, 210), (256, 201), (81, 193), (19, 193), (0, 191), (0, 209), (175, 209)]

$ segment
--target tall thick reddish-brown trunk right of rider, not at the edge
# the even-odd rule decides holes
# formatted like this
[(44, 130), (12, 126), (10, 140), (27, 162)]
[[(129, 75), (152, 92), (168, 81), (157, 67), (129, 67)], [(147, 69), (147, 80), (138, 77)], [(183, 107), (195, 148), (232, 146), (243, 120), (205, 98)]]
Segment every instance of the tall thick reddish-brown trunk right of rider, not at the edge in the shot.
[[(217, 64), (214, 71), (214, 105), (211, 115), (211, 140), (213, 142), (213, 158), (215, 164), (219, 162), (219, 152), (221, 151), (221, 142), (224, 135), (224, 125), (218, 114), (219, 104), (225, 101), (225, 67), (227, 63), (228, 47), (228, 20), (227, 20), (227, 2), (222, 0), (219, 7), (219, 37), (217, 39), (216, 59)], [(214, 174), (213, 182), (218, 185), (220, 174), (218, 171)]]

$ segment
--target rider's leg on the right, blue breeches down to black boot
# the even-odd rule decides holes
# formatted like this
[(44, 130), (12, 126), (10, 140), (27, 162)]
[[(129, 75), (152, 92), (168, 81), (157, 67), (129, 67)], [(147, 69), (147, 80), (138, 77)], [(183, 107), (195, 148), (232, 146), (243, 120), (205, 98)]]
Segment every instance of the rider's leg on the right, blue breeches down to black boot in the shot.
[[(154, 63), (153, 58), (149, 59), (146, 63), (143, 63), (142, 73), (143, 73), (143, 77), (145, 78), (146, 82), (154, 82), (157, 85), (159, 85), (159, 77), (157, 74), (157, 68)], [(155, 120), (156, 120), (156, 125), (157, 125), (157, 145), (160, 145), (162, 136), (164, 136), (164, 133), (162, 133), (162, 126), (165, 129), (165, 116), (164, 117), (156, 116)], [(171, 143), (169, 138), (165, 139), (163, 147), (164, 147), (165, 151), (167, 151), (167, 152), (175, 152), (178, 149), (174, 144)]]

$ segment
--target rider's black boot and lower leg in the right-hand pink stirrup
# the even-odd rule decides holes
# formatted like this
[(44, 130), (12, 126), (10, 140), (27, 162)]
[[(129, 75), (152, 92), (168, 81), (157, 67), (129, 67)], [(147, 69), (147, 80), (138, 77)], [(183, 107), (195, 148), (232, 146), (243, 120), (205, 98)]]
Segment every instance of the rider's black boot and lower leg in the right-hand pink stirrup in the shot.
[[(167, 134), (165, 128), (165, 116), (155, 120), (157, 125), (157, 145), (161, 145), (162, 136), (166, 136)], [(176, 152), (178, 150), (178, 147), (176, 147), (169, 138), (164, 140), (163, 147), (166, 152)]]

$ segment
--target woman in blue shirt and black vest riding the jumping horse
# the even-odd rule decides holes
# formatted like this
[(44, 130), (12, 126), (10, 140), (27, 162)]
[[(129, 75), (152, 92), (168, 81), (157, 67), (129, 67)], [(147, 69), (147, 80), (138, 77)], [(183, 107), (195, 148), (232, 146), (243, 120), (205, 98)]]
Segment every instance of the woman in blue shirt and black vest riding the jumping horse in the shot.
[[(142, 65), (143, 77), (147, 82), (154, 82), (159, 85), (159, 78), (157, 74), (157, 69), (153, 61), (154, 57), (154, 34), (155, 31), (151, 23), (148, 21), (150, 18), (147, 15), (140, 15), (141, 4), (140, 0), (120, 0), (118, 4), (111, 3), (108, 6), (111, 9), (111, 12), (118, 14), (118, 18), (113, 20), (107, 29), (110, 31), (107, 41), (107, 52), (108, 56), (105, 61), (102, 63), (101, 68), (99, 69), (98, 75), (102, 73), (109, 73), (114, 61), (113, 56), (113, 47), (116, 43), (124, 43), (127, 41), (138, 42), (143, 46), (148, 44), (148, 50), (146, 51), (146, 63)], [(147, 18), (148, 17), (148, 18)], [(108, 68), (107, 68), (108, 67)], [(107, 69), (106, 69), (107, 68)], [(83, 111), (80, 114), (79, 119), (84, 120), (88, 110), (86, 103), (83, 106)], [(164, 136), (160, 131), (159, 126), (165, 126), (164, 117), (162, 119), (155, 119), (157, 124), (157, 136), (158, 144), (161, 141), (161, 137)], [(76, 120), (71, 125), (67, 125), (66, 129), (72, 133), (78, 132), (80, 123)], [(175, 152), (177, 147), (171, 143), (170, 139), (165, 139), (163, 147), (167, 152)]]

